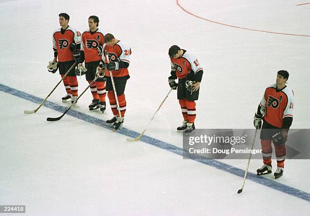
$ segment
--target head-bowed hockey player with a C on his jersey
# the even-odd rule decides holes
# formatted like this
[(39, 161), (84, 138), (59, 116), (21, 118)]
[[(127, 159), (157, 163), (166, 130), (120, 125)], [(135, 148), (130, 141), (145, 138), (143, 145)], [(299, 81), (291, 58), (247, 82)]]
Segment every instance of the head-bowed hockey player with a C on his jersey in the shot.
[[(177, 132), (191, 133), (195, 130), (195, 100), (198, 100), (203, 68), (195, 56), (176, 45), (170, 47), (169, 57), (171, 60), (169, 86), (174, 90), (177, 89), (177, 98), (183, 115), (182, 125), (177, 127)], [(178, 83), (175, 82), (177, 78)]]

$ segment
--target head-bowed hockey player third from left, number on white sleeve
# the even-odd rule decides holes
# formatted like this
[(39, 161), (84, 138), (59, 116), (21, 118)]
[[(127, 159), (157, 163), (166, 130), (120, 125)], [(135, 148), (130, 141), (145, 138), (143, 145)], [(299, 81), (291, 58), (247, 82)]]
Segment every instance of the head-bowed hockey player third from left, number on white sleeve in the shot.
[[(113, 118), (107, 120), (106, 123), (113, 123), (114, 130), (117, 130), (124, 123), (124, 116), (126, 112), (126, 99), (125, 99), (125, 87), (127, 80), (130, 78), (128, 73), (128, 67), (130, 63), (131, 48), (126, 43), (115, 39), (111, 33), (107, 33), (104, 36), (104, 54), (102, 55), (102, 61), (105, 67), (112, 72), (115, 90), (117, 92), (118, 101), (120, 104), (120, 110), (122, 115), (122, 121), (119, 117), (116, 98), (113, 92), (113, 86), (109, 72), (106, 73), (106, 91), (108, 92), (108, 98)], [(106, 56), (108, 55), (109, 63), (107, 63)]]

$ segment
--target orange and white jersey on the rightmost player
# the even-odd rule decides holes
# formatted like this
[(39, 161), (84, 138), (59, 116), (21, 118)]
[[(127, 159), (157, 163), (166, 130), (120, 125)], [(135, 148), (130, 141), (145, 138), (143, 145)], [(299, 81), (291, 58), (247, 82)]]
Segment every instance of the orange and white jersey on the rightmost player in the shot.
[(294, 92), (288, 86), (282, 90), (277, 90), (277, 84), (270, 85), (266, 88), (260, 105), (267, 107), (264, 121), (275, 127), (282, 128), (285, 117), (293, 118)]

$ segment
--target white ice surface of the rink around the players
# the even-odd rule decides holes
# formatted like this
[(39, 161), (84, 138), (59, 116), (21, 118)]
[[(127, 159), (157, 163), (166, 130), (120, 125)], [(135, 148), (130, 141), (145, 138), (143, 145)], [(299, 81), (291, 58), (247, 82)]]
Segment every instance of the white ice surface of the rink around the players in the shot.
[[(179, 1), (199, 17), (229, 25), (310, 35), (309, 5), (297, 1)], [(181, 10), (175, 1), (0, 1), (0, 83), (45, 98), (59, 81), (47, 73), (58, 14), (81, 31), (90, 15), (100, 27), (131, 45), (124, 126), (142, 132), (167, 94), (171, 45), (195, 54), (204, 67), (197, 128), (252, 128), (253, 114), (276, 71), (290, 72), (295, 92), (292, 128), (308, 128), (309, 37), (263, 33), (208, 22)], [(79, 92), (87, 87), (79, 80)], [(49, 101), (64, 105), (61, 84)], [(87, 92), (74, 110), (88, 111)], [(242, 178), (184, 160), (144, 142), (64, 116), (0, 91), (0, 205), (26, 205), (26, 215), (232, 214), (307, 215), (309, 202)], [(182, 121), (173, 91), (146, 135), (182, 147), (175, 127)], [(222, 160), (246, 168), (247, 160)], [(275, 161), (274, 161), (275, 162)], [(287, 160), (277, 182), (310, 193), (309, 160)], [(255, 173), (261, 160), (251, 161)], [(274, 163), (274, 166), (276, 164)], [(273, 176), (267, 176), (273, 179)]]

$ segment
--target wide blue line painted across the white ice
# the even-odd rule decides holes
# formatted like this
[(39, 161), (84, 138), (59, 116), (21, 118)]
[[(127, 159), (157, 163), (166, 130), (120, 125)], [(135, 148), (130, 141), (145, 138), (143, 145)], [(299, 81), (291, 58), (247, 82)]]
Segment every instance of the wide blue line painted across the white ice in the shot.
[[(42, 98), (36, 97), (34, 95), (28, 94), (28, 93), (23, 92), (23, 91), (19, 91), (17, 89), (11, 88), (11, 87), (3, 85), (3, 84), (0, 84), (0, 90), (3, 92), (6, 92), (6, 93), (12, 94), (14, 96), (29, 100), (31, 102), (37, 103), (37, 104), (41, 104), (43, 101)], [(66, 110), (66, 107), (58, 105), (58, 104), (50, 102), (50, 101), (46, 101), (44, 106), (46, 106), (50, 109), (53, 109), (55, 111), (58, 111), (60, 113), (63, 113)], [(21, 112), (23, 112), (23, 111), (21, 111)], [(67, 112), (67, 115), (111, 130), (111, 126), (106, 125), (105, 121), (103, 121), (102, 119), (98, 119), (98, 118), (89, 116), (87, 114), (84, 114), (84, 113), (81, 113), (81, 112), (78, 112), (75, 110), (69, 110)], [(129, 136), (129, 137), (137, 137), (138, 135), (140, 135), (140, 133), (126, 129), (124, 127), (120, 128), (117, 132), (120, 134)], [(164, 141), (161, 141), (159, 139), (156, 139), (156, 138), (153, 138), (150, 136), (146, 136), (146, 135), (143, 135), (140, 140), (143, 142), (146, 142), (152, 146), (155, 146), (155, 147), (167, 150), (169, 152), (175, 153), (177, 155), (183, 156), (183, 152), (182, 152), (183, 149), (176, 147), (176, 146), (173, 146), (173, 145), (169, 144), (168, 142), (164, 142)], [(207, 159), (204, 157), (197, 157), (193, 160), (198, 161), (198, 162), (203, 163), (203, 164), (206, 164), (206, 165), (209, 165), (209, 166), (212, 166), (214, 168), (229, 172), (231, 174), (240, 176), (242, 178), (244, 177), (244, 172), (245, 172), (244, 170), (239, 169), (239, 168), (234, 167), (234, 166), (230, 166), (230, 165), (222, 163), (222, 162), (219, 162), (217, 160)], [(275, 182), (273, 180), (264, 178), (262, 176), (257, 176), (256, 174), (253, 174), (250, 172), (248, 172), (248, 174), (247, 174), (247, 179), (249, 179), (253, 182), (256, 182), (258, 184), (267, 186), (269, 188), (273, 188), (273, 189), (278, 190), (278, 191), (282, 191), (283, 193), (290, 194), (292, 196), (295, 196), (295, 197), (298, 197), (300, 199), (303, 199), (303, 200), (310, 202), (310, 194), (308, 194), (304, 191), (300, 191), (298, 189), (283, 185), (281, 183), (278, 183), (278, 182)], [(241, 181), (240, 181), (240, 183), (241, 183)], [(239, 188), (236, 188), (236, 192), (238, 189)]]

